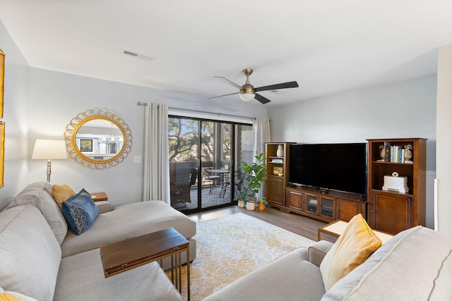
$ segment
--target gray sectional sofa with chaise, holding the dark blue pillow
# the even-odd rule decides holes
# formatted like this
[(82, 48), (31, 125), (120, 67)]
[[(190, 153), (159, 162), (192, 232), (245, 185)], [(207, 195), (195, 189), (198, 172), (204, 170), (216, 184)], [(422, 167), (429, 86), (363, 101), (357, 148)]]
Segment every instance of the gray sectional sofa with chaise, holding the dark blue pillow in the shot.
[(157, 262), (105, 278), (99, 247), (174, 228), (189, 240), (192, 261), (193, 220), (164, 202), (137, 202), (99, 214), (88, 231), (76, 235), (51, 192), (48, 182), (30, 184), (0, 212), (0, 292), (40, 301), (182, 300)]

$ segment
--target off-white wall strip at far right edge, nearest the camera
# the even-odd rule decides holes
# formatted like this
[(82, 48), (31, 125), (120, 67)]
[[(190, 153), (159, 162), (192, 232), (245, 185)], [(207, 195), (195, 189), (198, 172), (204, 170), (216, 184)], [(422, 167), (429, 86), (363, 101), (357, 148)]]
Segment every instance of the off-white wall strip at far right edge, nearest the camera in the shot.
[(439, 48), (438, 55), (438, 110), (436, 128), (438, 147), (436, 160), (441, 162), (437, 177), (437, 230), (452, 239), (452, 44)]

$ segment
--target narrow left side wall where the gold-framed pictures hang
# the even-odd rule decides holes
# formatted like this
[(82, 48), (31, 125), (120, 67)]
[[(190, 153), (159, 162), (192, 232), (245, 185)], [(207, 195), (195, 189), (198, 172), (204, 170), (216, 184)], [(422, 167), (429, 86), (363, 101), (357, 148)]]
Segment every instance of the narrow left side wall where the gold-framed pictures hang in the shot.
[(28, 102), (30, 68), (0, 21), (0, 48), (5, 53), (5, 173), (0, 210), (28, 183)]

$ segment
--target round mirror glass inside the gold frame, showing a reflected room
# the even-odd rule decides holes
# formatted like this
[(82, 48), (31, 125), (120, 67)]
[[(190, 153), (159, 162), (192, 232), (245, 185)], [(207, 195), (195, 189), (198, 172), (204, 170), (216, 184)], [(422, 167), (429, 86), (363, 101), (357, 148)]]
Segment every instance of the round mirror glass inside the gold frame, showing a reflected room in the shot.
[(76, 133), (78, 150), (90, 159), (107, 160), (119, 154), (124, 135), (111, 121), (96, 119), (84, 123)]

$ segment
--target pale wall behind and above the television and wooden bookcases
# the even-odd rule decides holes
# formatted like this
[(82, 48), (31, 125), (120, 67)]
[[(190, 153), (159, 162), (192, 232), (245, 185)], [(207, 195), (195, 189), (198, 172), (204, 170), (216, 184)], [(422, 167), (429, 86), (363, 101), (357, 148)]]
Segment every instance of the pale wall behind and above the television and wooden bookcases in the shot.
[(273, 141), (336, 143), (428, 138), (426, 219), (427, 226), (434, 227), (436, 75), (280, 106), (269, 109), (268, 117)]

